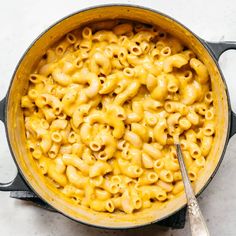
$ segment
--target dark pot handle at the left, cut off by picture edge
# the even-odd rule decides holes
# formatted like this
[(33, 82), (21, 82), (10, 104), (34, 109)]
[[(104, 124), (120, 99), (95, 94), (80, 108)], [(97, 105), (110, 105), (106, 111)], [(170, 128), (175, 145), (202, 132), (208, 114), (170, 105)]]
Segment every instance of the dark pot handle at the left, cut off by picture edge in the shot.
[[(6, 97), (0, 101), (0, 120), (5, 123), (5, 105)], [(29, 191), (29, 188), (25, 181), (22, 179), (20, 173), (18, 172), (15, 179), (9, 183), (0, 183), (0, 191)]]

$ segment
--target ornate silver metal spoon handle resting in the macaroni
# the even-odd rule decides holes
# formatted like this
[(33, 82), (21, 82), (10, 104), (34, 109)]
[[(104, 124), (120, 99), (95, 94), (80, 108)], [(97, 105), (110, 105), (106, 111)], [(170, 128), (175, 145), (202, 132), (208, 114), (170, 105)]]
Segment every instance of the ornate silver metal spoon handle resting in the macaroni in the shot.
[(177, 149), (177, 157), (180, 165), (185, 194), (187, 198), (188, 214), (189, 214), (192, 236), (210, 236), (206, 222), (203, 218), (202, 212), (199, 208), (197, 199), (195, 197), (191, 183), (188, 178), (181, 147), (179, 144), (175, 144), (175, 146)]

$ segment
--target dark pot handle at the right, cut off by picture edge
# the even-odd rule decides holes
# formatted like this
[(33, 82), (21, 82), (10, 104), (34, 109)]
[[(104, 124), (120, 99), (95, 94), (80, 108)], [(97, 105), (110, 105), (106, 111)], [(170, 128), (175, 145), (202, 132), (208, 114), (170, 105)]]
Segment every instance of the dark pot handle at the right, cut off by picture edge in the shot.
[[(207, 42), (208, 48), (212, 52), (215, 59), (218, 61), (221, 54), (230, 49), (236, 49), (236, 42), (225, 41), (225, 42)], [(236, 114), (231, 111), (231, 128), (229, 136), (232, 137), (236, 133)]]

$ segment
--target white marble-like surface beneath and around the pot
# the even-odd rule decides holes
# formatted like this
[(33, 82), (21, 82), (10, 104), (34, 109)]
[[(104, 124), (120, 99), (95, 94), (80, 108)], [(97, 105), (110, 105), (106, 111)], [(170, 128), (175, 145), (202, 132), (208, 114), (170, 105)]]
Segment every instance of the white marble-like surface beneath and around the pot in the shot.
[[(190, 3), (191, 2), (191, 3)], [(235, 0), (8, 0), (0, 1), (0, 98), (6, 94), (16, 63), (23, 52), (50, 24), (72, 12), (102, 3), (134, 3), (166, 13), (192, 29), (200, 37), (211, 40), (236, 40)], [(236, 53), (228, 51), (220, 58), (236, 111)], [(0, 179), (9, 181), (16, 169), (11, 159), (3, 125), (0, 124)], [(199, 198), (211, 235), (236, 235), (236, 137), (228, 145), (225, 158), (215, 178)], [(171, 230), (158, 226), (142, 230), (107, 231), (87, 227), (59, 214), (47, 212), (28, 203), (9, 198), (0, 193), (1, 236), (99, 236), (99, 235), (190, 235), (188, 223), (183, 230)]]

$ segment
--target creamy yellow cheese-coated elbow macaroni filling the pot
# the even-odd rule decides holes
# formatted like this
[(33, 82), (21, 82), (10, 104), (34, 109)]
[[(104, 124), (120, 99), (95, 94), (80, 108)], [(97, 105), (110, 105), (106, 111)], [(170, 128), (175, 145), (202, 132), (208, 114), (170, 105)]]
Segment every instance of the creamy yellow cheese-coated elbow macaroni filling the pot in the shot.
[(105, 21), (48, 49), (21, 99), (27, 148), (73, 204), (127, 214), (166, 202), (191, 181), (214, 142), (207, 67), (155, 26)]

